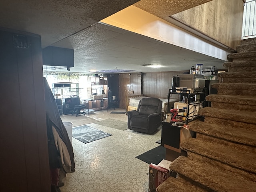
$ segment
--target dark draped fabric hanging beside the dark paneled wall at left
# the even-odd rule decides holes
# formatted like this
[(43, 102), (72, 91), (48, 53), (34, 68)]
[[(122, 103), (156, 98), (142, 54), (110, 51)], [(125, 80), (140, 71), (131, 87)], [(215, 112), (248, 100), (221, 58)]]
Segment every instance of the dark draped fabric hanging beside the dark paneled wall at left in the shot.
[(45, 77), (44, 104), (46, 110), (50, 168), (63, 168), (66, 173), (74, 172), (75, 162), (72, 144), (60, 118), (52, 90)]

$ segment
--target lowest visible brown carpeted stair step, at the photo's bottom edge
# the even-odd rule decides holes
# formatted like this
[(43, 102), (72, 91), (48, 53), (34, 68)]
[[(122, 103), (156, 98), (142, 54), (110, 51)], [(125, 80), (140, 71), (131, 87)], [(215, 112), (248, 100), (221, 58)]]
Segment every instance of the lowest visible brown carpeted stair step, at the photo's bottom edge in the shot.
[(207, 192), (208, 189), (202, 189), (199, 186), (183, 178), (169, 177), (156, 188), (157, 192)]

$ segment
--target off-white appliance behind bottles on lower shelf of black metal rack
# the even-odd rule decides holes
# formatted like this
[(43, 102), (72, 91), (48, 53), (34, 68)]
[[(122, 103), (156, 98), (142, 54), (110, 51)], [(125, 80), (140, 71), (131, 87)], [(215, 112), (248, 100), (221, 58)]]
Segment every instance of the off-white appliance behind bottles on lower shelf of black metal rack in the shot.
[[(183, 107), (188, 108), (187, 103), (182, 103), (182, 102), (175, 102), (174, 103), (174, 109), (183, 109)], [(189, 111), (188, 111), (188, 119), (192, 120), (196, 118), (198, 115), (198, 111), (203, 108), (203, 104), (201, 103), (190, 103), (189, 105)], [(178, 113), (178, 115), (182, 115), (182, 113)]]

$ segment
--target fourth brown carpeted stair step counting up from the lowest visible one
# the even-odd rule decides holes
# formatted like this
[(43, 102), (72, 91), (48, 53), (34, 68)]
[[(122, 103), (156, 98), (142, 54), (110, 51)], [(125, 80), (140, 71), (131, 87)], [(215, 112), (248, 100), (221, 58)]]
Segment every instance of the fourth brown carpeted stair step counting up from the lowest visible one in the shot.
[(195, 122), (189, 128), (197, 133), (256, 147), (256, 130), (249, 131), (244, 128), (220, 126), (206, 122)]

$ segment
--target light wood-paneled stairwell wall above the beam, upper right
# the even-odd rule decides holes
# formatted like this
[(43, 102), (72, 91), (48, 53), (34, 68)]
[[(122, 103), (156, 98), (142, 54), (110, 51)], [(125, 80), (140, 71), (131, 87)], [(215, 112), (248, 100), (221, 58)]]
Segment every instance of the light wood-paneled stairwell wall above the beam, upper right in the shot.
[(242, 36), (243, 10), (242, 0), (213, 0), (171, 18), (236, 50)]

